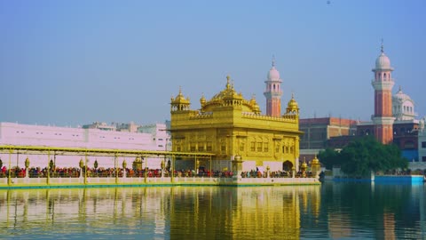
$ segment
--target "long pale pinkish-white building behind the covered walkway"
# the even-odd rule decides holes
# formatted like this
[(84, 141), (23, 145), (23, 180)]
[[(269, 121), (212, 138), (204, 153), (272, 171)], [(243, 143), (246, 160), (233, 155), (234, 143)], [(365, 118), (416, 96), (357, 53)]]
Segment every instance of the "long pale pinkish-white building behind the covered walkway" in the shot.
[[(165, 124), (144, 126), (146, 132), (119, 132), (106, 124), (101, 127), (71, 128), (29, 124), (0, 123), (0, 145), (44, 146), (64, 148), (107, 148), (107, 149), (137, 149), (137, 150), (166, 150), (170, 135), (165, 131)], [(103, 129), (103, 130), (101, 130)], [(46, 155), (31, 155), (14, 153), (11, 166), (24, 167), (26, 158), (30, 160), (30, 167), (44, 167), (49, 159)], [(0, 153), (3, 165), (8, 167), (9, 154)], [(61, 156), (51, 154), (57, 167), (78, 167), (82, 156)], [(89, 156), (88, 165), (93, 167), (97, 160), (99, 167), (114, 167), (114, 158), (111, 156)], [(119, 159), (118, 162), (122, 163)], [(134, 159), (126, 159), (128, 167)], [(162, 159), (149, 159), (149, 168), (160, 168)]]

